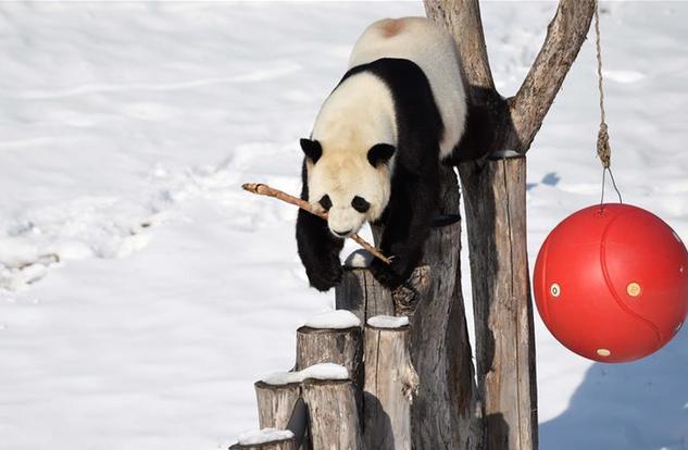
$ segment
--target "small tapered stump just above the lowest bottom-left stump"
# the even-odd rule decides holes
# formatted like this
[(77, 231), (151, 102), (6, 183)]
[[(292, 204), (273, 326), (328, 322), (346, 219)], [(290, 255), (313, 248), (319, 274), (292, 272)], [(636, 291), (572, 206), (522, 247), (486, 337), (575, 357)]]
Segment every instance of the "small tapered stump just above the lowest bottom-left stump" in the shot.
[(286, 428), (293, 405), (301, 393), (300, 385), (298, 383), (271, 384), (260, 380), (255, 382), (253, 387), (258, 399), (258, 418), (261, 428)]

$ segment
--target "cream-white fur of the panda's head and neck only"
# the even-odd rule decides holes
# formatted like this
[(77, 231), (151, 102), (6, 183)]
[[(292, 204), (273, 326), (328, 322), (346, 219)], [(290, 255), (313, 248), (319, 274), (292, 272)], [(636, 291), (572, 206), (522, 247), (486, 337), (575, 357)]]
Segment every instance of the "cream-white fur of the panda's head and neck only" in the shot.
[[(391, 190), (393, 157), (390, 164), (373, 167), (367, 151), (380, 142), (396, 145), (396, 136), (391, 93), (372, 74), (347, 78), (323, 104), (312, 134), (323, 147), (323, 157), (317, 164), (307, 162), (309, 201), (322, 210), (318, 200), (329, 196), (333, 208), (327, 223), (334, 233), (352, 235), (366, 221), (376, 221), (383, 213)], [(351, 207), (354, 196), (371, 203), (366, 213)]]

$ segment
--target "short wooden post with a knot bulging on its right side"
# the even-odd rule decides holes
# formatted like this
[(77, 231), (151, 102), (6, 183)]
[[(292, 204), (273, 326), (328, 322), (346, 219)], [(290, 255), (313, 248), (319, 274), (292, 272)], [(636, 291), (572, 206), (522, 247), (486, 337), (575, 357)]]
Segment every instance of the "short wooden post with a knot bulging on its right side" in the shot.
[(409, 354), (409, 326), (365, 327), (365, 448), (411, 449), (411, 402), (418, 378)]

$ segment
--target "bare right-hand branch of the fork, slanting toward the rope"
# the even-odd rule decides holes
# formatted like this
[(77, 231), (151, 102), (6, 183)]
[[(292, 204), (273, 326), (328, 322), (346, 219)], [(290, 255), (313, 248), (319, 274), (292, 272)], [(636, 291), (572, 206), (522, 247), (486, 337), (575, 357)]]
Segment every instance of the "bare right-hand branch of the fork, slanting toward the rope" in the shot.
[(590, 28), (595, 0), (561, 0), (547, 37), (518, 92), (510, 99), (516, 150), (526, 151)]

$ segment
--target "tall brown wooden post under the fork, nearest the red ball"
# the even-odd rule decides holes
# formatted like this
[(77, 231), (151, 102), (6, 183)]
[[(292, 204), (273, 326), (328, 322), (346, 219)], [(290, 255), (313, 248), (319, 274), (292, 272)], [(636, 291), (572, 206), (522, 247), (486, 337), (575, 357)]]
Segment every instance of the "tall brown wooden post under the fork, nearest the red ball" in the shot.
[(537, 448), (537, 380), (526, 252), (526, 160), (462, 167), (473, 279), (476, 363), (488, 449)]

